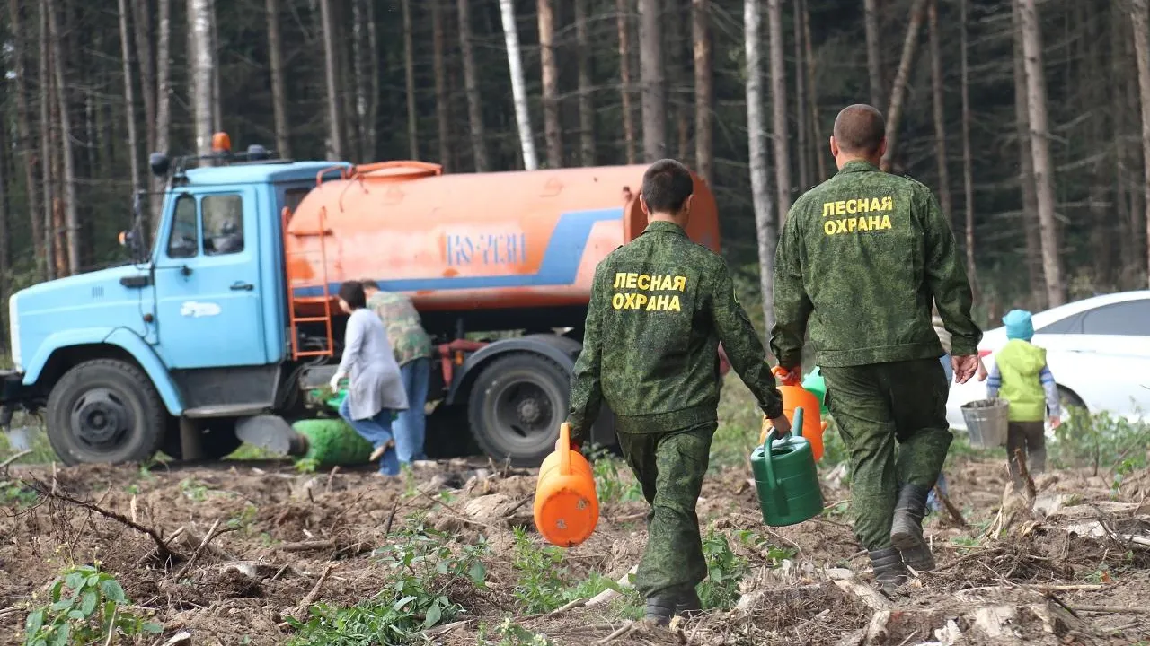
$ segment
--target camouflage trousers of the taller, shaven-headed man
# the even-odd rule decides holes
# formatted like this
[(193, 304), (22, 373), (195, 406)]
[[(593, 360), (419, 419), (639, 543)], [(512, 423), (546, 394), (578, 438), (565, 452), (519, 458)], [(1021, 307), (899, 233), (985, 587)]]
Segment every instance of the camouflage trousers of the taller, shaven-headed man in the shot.
[(822, 375), (850, 455), (854, 537), (871, 551), (890, 547), (898, 489), (933, 489), (946, 460), (946, 376), (937, 359), (822, 368)]

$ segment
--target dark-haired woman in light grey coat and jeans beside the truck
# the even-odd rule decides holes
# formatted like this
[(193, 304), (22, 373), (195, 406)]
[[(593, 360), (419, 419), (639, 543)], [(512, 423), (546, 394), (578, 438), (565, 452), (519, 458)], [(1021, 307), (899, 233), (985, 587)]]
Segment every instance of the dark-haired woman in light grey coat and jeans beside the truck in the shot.
[(350, 377), (339, 416), (375, 447), (370, 460), (379, 460), (379, 474), (396, 476), (399, 459), (391, 421), (394, 412), (407, 409), (407, 394), (383, 322), (366, 305), (361, 283), (348, 280), (339, 285), (339, 308), (350, 316), (344, 331), (344, 354), (331, 377), (331, 390)]

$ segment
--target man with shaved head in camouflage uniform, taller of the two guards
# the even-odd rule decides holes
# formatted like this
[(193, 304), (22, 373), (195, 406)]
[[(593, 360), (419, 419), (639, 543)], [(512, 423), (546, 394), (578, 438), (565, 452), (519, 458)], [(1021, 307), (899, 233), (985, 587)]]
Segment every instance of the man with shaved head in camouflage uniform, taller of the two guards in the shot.
[(951, 434), (931, 305), (959, 383), (977, 369), (982, 332), (950, 223), (929, 189), (879, 169), (885, 149), (879, 110), (838, 113), (838, 172), (795, 202), (779, 241), (770, 346), (784, 382), (797, 379), (810, 331), (850, 452), (854, 536), (892, 590), (906, 583), (906, 566), (934, 568), (922, 516)]

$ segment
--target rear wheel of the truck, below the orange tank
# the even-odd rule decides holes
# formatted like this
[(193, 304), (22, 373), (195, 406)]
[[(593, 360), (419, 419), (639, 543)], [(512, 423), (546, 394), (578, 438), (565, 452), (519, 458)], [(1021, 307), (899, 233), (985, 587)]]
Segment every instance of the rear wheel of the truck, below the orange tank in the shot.
[(468, 422), (480, 448), (515, 467), (538, 467), (567, 418), (570, 378), (537, 354), (497, 359), (471, 390)]

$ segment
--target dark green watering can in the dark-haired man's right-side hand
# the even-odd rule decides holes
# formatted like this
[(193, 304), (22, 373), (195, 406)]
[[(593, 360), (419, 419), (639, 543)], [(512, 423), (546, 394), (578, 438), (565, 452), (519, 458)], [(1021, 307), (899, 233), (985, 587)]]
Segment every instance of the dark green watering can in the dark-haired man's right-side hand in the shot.
[[(803, 428), (803, 409), (795, 409), (791, 428)], [(822, 490), (811, 443), (770, 429), (762, 446), (751, 452), (751, 471), (759, 491), (762, 522), (774, 528), (808, 521), (822, 513)]]

